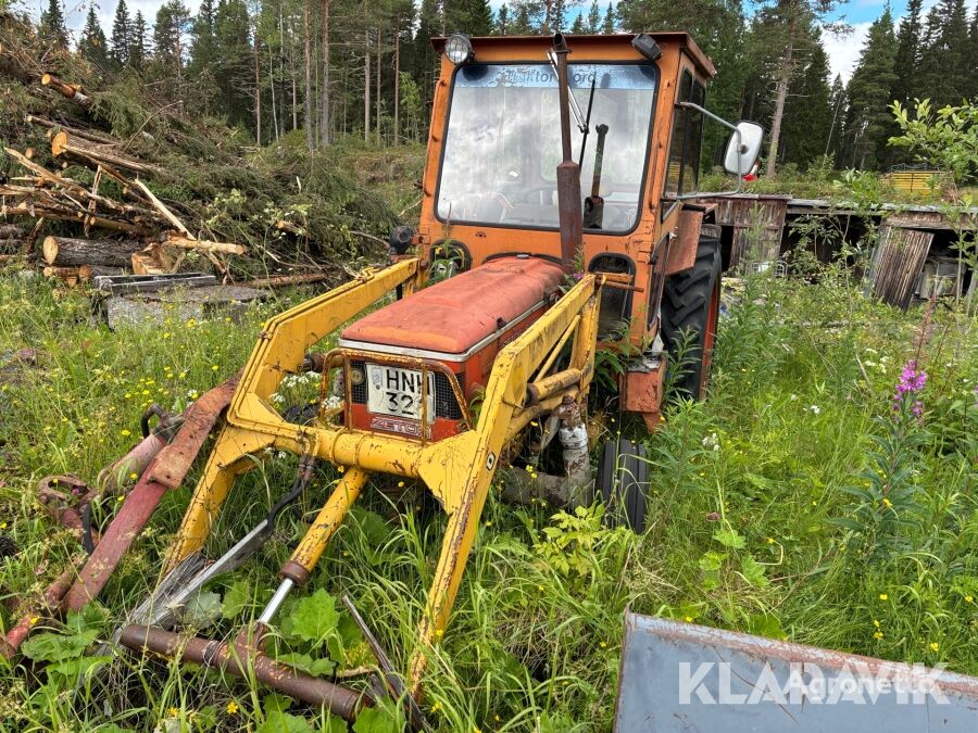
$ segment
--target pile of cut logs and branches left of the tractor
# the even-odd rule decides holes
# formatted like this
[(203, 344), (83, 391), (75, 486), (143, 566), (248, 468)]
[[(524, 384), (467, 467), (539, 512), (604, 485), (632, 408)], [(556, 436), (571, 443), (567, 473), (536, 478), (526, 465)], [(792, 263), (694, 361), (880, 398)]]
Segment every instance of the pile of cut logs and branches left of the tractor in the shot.
[[(246, 248), (211, 241), (213, 233), (189, 213), (191, 208), (184, 210), (185, 224), (173, 204), (161, 201), (153, 181), (172, 182), (172, 172), (159, 162), (141, 160), (133, 152), (131, 139), (100, 128), (98, 121), (104, 114), (99, 94), (43, 66), (51, 59), (38, 52), (30, 38), (20, 21), (0, 10), (0, 266), (29, 260), (46, 275), (75, 283), (102, 274), (175, 273), (189, 264), (187, 254), (193, 251), (206, 257), (225, 282), (231, 281), (226, 257), (244, 255)], [(3, 110), (12, 85), (33, 100), (18, 114)], [(154, 112), (159, 117), (168, 114), (163, 106)], [(135, 137), (154, 141), (143, 127)], [(176, 157), (180, 155), (177, 151)], [(193, 164), (189, 159), (184, 162)], [(278, 229), (308, 237), (287, 222)], [(337, 277), (335, 268), (326, 273), (319, 266), (272, 258), (289, 274), (267, 278), (268, 287)], [(199, 265), (195, 262), (193, 269)]]

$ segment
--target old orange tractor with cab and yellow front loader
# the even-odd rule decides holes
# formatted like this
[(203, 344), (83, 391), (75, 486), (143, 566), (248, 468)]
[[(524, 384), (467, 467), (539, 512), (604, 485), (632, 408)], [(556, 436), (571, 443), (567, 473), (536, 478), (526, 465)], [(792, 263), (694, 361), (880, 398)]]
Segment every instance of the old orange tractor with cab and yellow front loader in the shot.
[[(610, 515), (642, 529), (642, 447), (609, 443), (591, 475), (585, 415), (595, 353), (623, 355), (618, 408), (650, 430), (680, 339), (692, 358), (679, 382), (703, 393), (720, 292), (717, 228), (695, 203), (704, 125), (730, 128), (725, 167), (738, 179), (761, 147), (756, 125), (734, 126), (703, 108), (714, 68), (686, 34), (455, 35), (435, 45), (441, 75), (417, 231), (392, 232), (389, 267), (266, 324), (171, 548), (171, 573), (118, 634), (133, 649), (253, 675), (347, 719), (372, 704), (368, 695), (262, 648), (283, 601), (310, 579), (372, 475), (424, 484), (448, 515), (406, 684), (375, 644), (388, 692), (410, 704), (416, 724), (428, 649), (448, 624), (500, 468), (537, 456), (549, 475), (541, 470), (534, 485), (524, 479), (524, 495), (580, 503), (600, 491)], [(321, 375), (321, 399), (300, 418), (277, 390), (303, 371)], [(179, 636), (174, 609), (271, 533), (277, 511), (222, 558), (202, 560), (235, 479), (266, 448), (300, 456), (289, 496), (316, 462), (341, 478), (254, 624), (228, 641)]]

